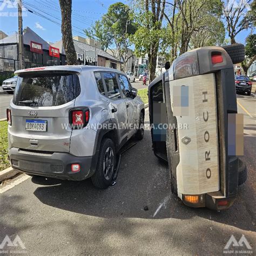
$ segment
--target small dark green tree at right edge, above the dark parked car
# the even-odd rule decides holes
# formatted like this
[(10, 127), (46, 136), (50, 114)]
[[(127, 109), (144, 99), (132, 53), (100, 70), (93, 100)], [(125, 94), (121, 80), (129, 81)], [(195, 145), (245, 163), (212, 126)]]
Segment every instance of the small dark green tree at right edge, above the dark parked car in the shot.
[(242, 69), (245, 71), (245, 75), (247, 75), (247, 71), (252, 65), (252, 63), (256, 60), (256, 34), (249, 35), (246, 38), (245, 44), (245, 60), (242, 62)]

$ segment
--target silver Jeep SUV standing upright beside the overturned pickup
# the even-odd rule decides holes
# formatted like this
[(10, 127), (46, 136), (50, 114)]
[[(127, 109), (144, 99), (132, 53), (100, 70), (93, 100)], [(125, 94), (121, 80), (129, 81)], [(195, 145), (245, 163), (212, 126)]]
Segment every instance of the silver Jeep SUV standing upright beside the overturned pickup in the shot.
[(8, 116), (14, 169), (68, 180), (113, 182), (120, 148), (144, 134), (144, 104), (123, 72), (99, 66), (18, 70)]

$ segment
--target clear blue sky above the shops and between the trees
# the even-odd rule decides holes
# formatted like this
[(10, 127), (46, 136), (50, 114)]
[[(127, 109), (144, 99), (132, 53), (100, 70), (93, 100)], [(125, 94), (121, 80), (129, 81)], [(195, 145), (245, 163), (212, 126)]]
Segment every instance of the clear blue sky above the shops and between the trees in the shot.
[[(128, 1), (128, 0), (127, 0)], [(127, 4), (127, 1), (122, 1)], [(10, 2), (10, 4), (6, 4)], [(17, 0), (0, 0), (0, 30), (7, 35), (18, 31)], [(29, 26), (46, 42), (55, 43), (62, 38), (61, 15), (58, 0), (22, 0), (23, 29)], [(72, 26), (73, 36), (84, 36), (83, 29), (89, 28), (97, 19), (106, 13), (109, 5), (118, 0), (72, 0)], [(33, 11), (31, 13), (30, 11)], [(48, 19), (41, 17), (44, 16)], [(54, 21), (54, 22), (52, 22)], [(56, 24), (59, 23), (59, 24)], [(242, 31), (236, 37), (238, 43), (245, 43), (250, 31)], [(226, 35), (227, 37), (227, 35)]]

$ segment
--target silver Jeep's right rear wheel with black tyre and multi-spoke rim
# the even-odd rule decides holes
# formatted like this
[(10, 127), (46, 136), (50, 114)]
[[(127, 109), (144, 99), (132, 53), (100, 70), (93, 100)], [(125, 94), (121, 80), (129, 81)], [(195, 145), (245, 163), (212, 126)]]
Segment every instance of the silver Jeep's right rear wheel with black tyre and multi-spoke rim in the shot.
[(116, 149), (111, 139), (103, 139), (100, 145), (98, 164), (95, 174), (92, 176), (92, 184), (100, 189), (112, 184), (114, 167), (116, 164)]

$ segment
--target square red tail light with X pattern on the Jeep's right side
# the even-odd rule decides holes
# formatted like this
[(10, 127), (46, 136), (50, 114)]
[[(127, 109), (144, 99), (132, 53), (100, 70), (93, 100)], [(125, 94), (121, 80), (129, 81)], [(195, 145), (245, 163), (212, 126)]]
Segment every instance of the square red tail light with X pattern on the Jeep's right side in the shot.
[(72, 129), (81, 129), (85, 127), (90, 119), (90, 111), (86, 108), (72, 109), (69, 112), (69, 121)]

